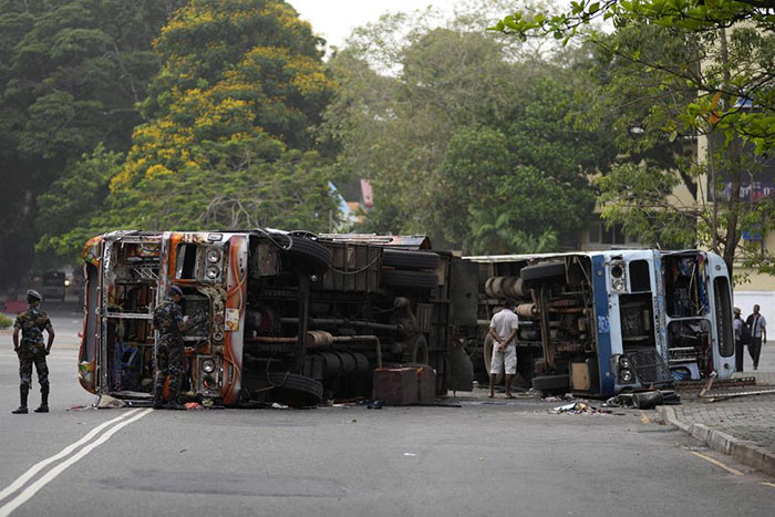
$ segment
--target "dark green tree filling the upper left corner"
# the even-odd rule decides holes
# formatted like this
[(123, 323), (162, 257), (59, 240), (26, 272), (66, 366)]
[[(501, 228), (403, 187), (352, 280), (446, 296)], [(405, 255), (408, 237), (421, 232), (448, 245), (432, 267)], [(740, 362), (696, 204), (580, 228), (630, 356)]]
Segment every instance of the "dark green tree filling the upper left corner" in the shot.
[(33, 262), (38, 197), (100, 142), (126, 148), (177, 3), (0, 0), (0, 286)]

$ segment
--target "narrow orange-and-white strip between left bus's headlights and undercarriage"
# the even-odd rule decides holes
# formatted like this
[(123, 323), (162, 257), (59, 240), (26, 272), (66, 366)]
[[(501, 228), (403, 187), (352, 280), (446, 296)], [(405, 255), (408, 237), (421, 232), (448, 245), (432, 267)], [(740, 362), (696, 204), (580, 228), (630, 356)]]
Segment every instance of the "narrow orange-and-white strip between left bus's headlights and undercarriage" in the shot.
[(226, 347), (224, 348), (224, 404), (239, 401), (242, 376), (242, 338), (248, 288), (248, 239), (231, 237), (226, 293)]

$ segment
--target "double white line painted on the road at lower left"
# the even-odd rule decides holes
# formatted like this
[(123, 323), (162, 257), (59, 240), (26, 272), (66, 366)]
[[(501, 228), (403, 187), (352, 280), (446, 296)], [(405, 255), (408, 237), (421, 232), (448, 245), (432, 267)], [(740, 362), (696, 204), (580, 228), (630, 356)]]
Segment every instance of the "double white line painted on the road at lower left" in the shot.
[[(60, 459), (68, 454), (72, 453), (76, 447), (82, 445), (83, 443), (87, 442), (89, 440), (93, 438), (100, 431), (105, 428), (106, 426), (116, 423), (121, 421), (122, 418), (125, 418), (130, 416), (131, 414), (141, 411), (140, 409), (137, 410), (132, 410), (130, 412), (124, 413), (122, 416), (118, 416), (117, 418), (113, 418), (112, 421), (105, 422), (104, 424), (99, 425), (94, 430), (92, 430), (86, 436), (78, 441), (76, 443), (69, 445), (65, 447), (61, 453), (59, 453), (55, 456), (52, 456), (51, 458), (44, 459), (38, 464), (35, 464), (33, 467), (31, 467), (27, 473), (24, 473), (19, 479), (17, 479), (13, 484), (11, 484), (8, 488), (6, 488), (2, 492), (2, 497), (0, 497), (0, 500), (2, 500), (4, 497), (8, 496), (8, 494), (11, 494), (19, 489), (20, 486), (23, 486), (23, 484), (29, 480), (34, 474), (40, 472), (41, 468), (44, 466), (51, 464), (52, 462), (55, 462), (56, 459)], [(147, 410), (143, 411), (142, 413), (134, 415), (133, 417), (125, 420), (124, 422), (121, 422), (120, 424), (111, 427), (108, 431), (106, 431), (102, 436), (100, 436), (97, 440), (94, 442), (90, 443), (85, 447), (83, 447), (81, 451), (79, 451), (76, 454), (72, 455), (64, 462), (60, 463), (56, 465), (54, 468), (49, 471), (45, 475), (43, 475), (40, 479), (34, 482), (32, 485), (27, 487), (21, 494), (19, 494), (17, 497), (11, 499), (9, 503), (0, 507), (0, 517), (7, 517), (11, 515), (11, 513), (17, 509), (19, 506), (23, 505), (27, 503), (32, 496), (34, 496), (41, 488), (43, 488), (45, 485), (51, 483), (56, 476), (62, 474), (68, 467), (71, 465), (75, 464), (80, 459), (82, 459), (86, 454), (91, 453), (94, 448), (99, 447), (100, 445), (104, 444), (107, 442), (107, 440), (113, 436), (115, 433), (117, 433), (122, 427), (138, 421), (143, 416), (147, 415), (151, 413), (153, 409), (148, 407)], [(12, 488), (12, 489), (11, 489)], [(7, 494), (7, 490), (8, 492)]]

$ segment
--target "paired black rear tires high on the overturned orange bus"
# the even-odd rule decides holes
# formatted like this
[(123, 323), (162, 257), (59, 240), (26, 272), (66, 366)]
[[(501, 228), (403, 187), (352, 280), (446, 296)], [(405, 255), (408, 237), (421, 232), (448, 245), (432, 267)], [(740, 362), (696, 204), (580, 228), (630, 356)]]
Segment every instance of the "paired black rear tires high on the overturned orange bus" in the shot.
[(385, 289), (430, 290), (438, 287), (435, 270), (441, 258), (433, 251), (384, 249), (382, 287)]

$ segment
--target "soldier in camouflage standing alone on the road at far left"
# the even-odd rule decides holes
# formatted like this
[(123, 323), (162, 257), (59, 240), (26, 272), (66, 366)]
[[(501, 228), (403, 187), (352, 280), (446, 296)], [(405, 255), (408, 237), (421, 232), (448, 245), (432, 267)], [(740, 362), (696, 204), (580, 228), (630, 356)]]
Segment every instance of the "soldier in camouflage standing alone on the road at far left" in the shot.
[[(27, 395), (30, 393), (32, 384), (32, 365), (38, 372), (40, 383), (41, 403), (35, 413), (49, 412), (49, 366), (45, 364), (45, 356), (51, 352), (54, 343), (54, 329), (45, 312), (40, 310), (40, 302), (43, 299), (38, 291), (30, 289), (27, 291), (27, 302), (30, 307), (20, 313), (13, 323), (13, 351), (19, 355), (19, 378), (21, 384), (19, 394), (21, 404), (18, 410), (11, 413), (20, 415), (27, 414)], [(46, 344), (43, 344), (43, 331), (49, 333)], [(21, 343), (19, 332), (21, 331)]]

